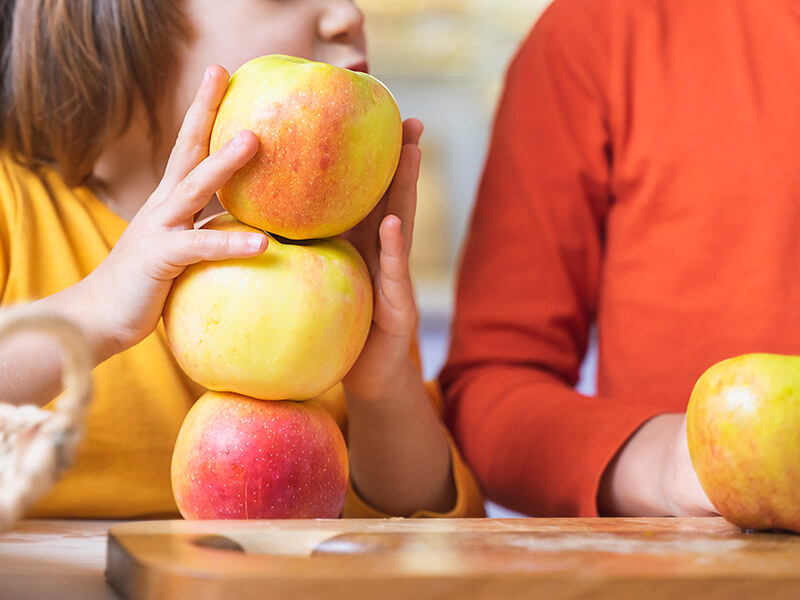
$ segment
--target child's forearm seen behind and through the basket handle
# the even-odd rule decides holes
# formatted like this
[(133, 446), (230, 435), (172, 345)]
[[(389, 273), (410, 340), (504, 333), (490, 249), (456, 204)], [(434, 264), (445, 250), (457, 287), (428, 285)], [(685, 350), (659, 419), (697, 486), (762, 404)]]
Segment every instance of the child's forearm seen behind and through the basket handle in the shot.
[[(26, 309), (64, 317), (89, 342), (90, 363), (109, 356), (99, 319), (87, 299), (86, 282), (26, 305)], [(10, 404), (43, 406), (62, 391), (62, 349), (47, 333), (22, 332), (0, 341), (0, 397)]]

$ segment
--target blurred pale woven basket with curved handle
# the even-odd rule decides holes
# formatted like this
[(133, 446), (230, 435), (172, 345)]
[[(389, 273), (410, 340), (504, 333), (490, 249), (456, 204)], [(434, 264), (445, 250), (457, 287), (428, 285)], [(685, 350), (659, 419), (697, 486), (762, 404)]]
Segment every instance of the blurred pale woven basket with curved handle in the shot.
[(81, 330), (27, 307), (0, 312), (0, 339), (33, 331), (61, 345), (65, 392), (54, 410), (15, 406), (0, 397), (0, 531), (13, 527), (72, 465), (92, 393), (91, 356)]

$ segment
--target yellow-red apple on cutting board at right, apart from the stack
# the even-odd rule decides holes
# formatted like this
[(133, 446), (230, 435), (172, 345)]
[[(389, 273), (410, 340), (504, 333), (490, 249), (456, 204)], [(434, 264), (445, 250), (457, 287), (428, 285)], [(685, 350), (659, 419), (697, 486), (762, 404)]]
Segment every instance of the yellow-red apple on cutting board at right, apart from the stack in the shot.
[(686, 419), (692, 464), (723, 517), (800, 532), (800, 357), (715, 364), (695, 384)]

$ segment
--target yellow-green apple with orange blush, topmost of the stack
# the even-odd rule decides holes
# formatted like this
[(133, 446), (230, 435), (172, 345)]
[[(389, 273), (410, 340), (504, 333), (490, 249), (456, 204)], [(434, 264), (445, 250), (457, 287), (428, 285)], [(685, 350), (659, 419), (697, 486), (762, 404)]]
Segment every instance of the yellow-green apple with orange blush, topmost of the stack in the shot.
[(211, 133), (214, 152), (239, 131), (255, 157), (218, 192), (240, 221), (290, 239), (332, 237), (361, 221), (392, 180), (403, 125), (377, 79), (285, 55), (242, 65)]

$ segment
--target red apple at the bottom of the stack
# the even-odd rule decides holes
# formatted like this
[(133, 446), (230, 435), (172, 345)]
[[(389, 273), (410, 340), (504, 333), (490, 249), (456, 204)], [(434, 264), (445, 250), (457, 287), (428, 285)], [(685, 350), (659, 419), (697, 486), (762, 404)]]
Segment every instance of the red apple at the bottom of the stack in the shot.
[(186, 519), (336, 518), (347, 447), (314, 401), (207, 392), (191, 408), (172, 455), (172, 490)]

